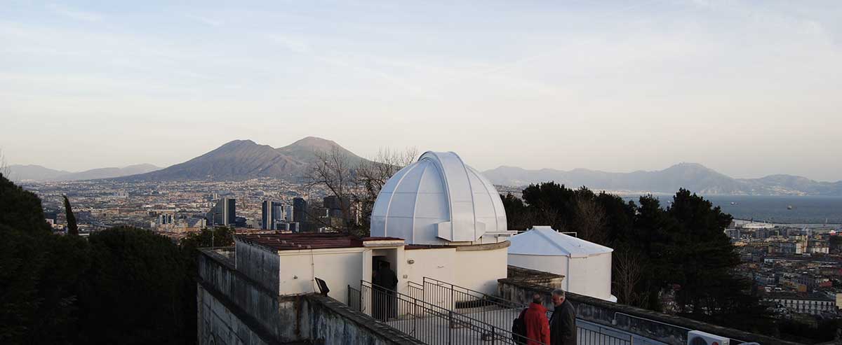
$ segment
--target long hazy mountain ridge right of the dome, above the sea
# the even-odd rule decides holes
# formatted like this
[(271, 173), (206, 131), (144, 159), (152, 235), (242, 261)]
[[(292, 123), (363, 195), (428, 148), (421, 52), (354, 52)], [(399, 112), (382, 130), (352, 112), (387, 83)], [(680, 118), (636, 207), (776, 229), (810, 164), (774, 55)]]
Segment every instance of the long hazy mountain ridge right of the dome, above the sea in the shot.
[(770, 175), (734, 179), (704, 165), (682, 163), (664, 170), (611, 173), (599, 170), (525, 170), (501, 166), (482, 173), (495, 185), (525, 186), (554, 180), (567, 186), (594, 190), (674, 193), (686, 188), (701, 194), (756, 196), (842, 196), (842, 181), (819, 182), (800, 176)]

